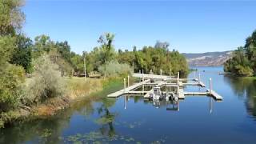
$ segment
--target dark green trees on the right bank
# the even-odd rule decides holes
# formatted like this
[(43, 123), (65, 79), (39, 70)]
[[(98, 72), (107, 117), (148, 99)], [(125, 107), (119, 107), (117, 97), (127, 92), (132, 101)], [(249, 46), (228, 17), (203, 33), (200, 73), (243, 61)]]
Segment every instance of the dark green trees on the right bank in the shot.
[(225, 62), (224, 70), (238, 76), (256, 74), (256, 30), (246, 38), (245, 46), (234, 50), (233, 58)]

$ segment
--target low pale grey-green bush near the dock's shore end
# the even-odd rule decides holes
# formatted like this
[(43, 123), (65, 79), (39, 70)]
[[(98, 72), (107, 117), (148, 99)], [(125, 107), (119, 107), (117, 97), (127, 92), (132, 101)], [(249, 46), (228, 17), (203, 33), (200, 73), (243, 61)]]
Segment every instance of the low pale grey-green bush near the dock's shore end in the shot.
[[(104, 74), (105, 65), (99, 66), (98, 70)], [(128, 64), (118, 63), (118, 62), (108, 62), (106, 64), (106, 76), (118, 76), (122, 74), (131, 74), (133, 70)]]

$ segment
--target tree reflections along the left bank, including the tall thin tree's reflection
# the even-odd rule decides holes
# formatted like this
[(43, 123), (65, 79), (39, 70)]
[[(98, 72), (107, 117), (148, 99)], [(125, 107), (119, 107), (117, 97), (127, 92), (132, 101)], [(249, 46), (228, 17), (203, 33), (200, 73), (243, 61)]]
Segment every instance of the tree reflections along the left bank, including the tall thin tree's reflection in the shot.
[[(71, 104), (70, 108), (54, 116), (30, 120), (30, 122), (17, 122), (14, 126), (0, 130), (0, 143), (62, 143), (62, 131), (69, 126), (74, 112), (88, 117), (94, 114), (95, 110), (101, 115), (97, 122), (101, 126), (99, 130), (102, 134), (114, 135), (113, 122), (117, 114), (111, 113), (109, 108), (114, 106), (115, 101), (115, 99), (106, 98), (106, 94), (78, 99)], [(95, 109), (94, 102), (102, 105)]]

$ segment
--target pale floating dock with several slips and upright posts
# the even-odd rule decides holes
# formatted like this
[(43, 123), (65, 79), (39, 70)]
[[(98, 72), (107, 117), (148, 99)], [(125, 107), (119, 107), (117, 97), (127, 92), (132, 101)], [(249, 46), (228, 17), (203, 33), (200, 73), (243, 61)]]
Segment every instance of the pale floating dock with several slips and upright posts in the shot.
[[(200, 86), (206, 87), (206, 85), (201, 82), (197, 78), (179, 78), (179, 74), (177, 78), (174, 76), (166, 76), (166, 75), (155, 75), (155, 74), (133, 74), (134, 78), (141, 78), (142, 82), (135, 83), (132, 86), (126, 87), (126, 82), (124, 83), (124, 89), (118, 90), (112, 94), (108, 94), (107, 97), (109, 98), (118, 98), (123, 94), (139, 94), (144, 98), (150, 98), (150, 94), (154, 92), (153, 89), (151, 90), (144, 90), (144, 86), (166, 86), (166, 87), (174, 87), (177, 89), (176, 94), (179, 99), (185, 99), (187, 95), (207, 95), (211, 96), (214, 99), (221, 101), (222, 96), (216, 93), (214, 90), (211, 90), (211, 79), (210, 79), (210, 89), (207, 89), (206, 92), (187, 92), (184, 91), (184, 86)], [(129, 78), (128, 78), (129, 79)], [(151, 82), (151, 80), (154, 82)], [(129, 80), (128, 80), (129, 81)], [(137, 91), (139, 87), (142, 87), (142, 90)]]

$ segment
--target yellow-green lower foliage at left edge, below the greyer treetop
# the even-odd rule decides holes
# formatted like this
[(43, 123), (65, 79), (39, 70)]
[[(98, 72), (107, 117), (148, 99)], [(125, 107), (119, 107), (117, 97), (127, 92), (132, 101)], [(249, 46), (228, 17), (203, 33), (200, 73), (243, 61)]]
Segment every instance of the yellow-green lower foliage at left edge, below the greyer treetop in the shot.
[(22, 67), (9, 63), (15, 48), (15, 38), (0, 37), (0, 113), (18, 104), (20, 84), (24, 81)]

